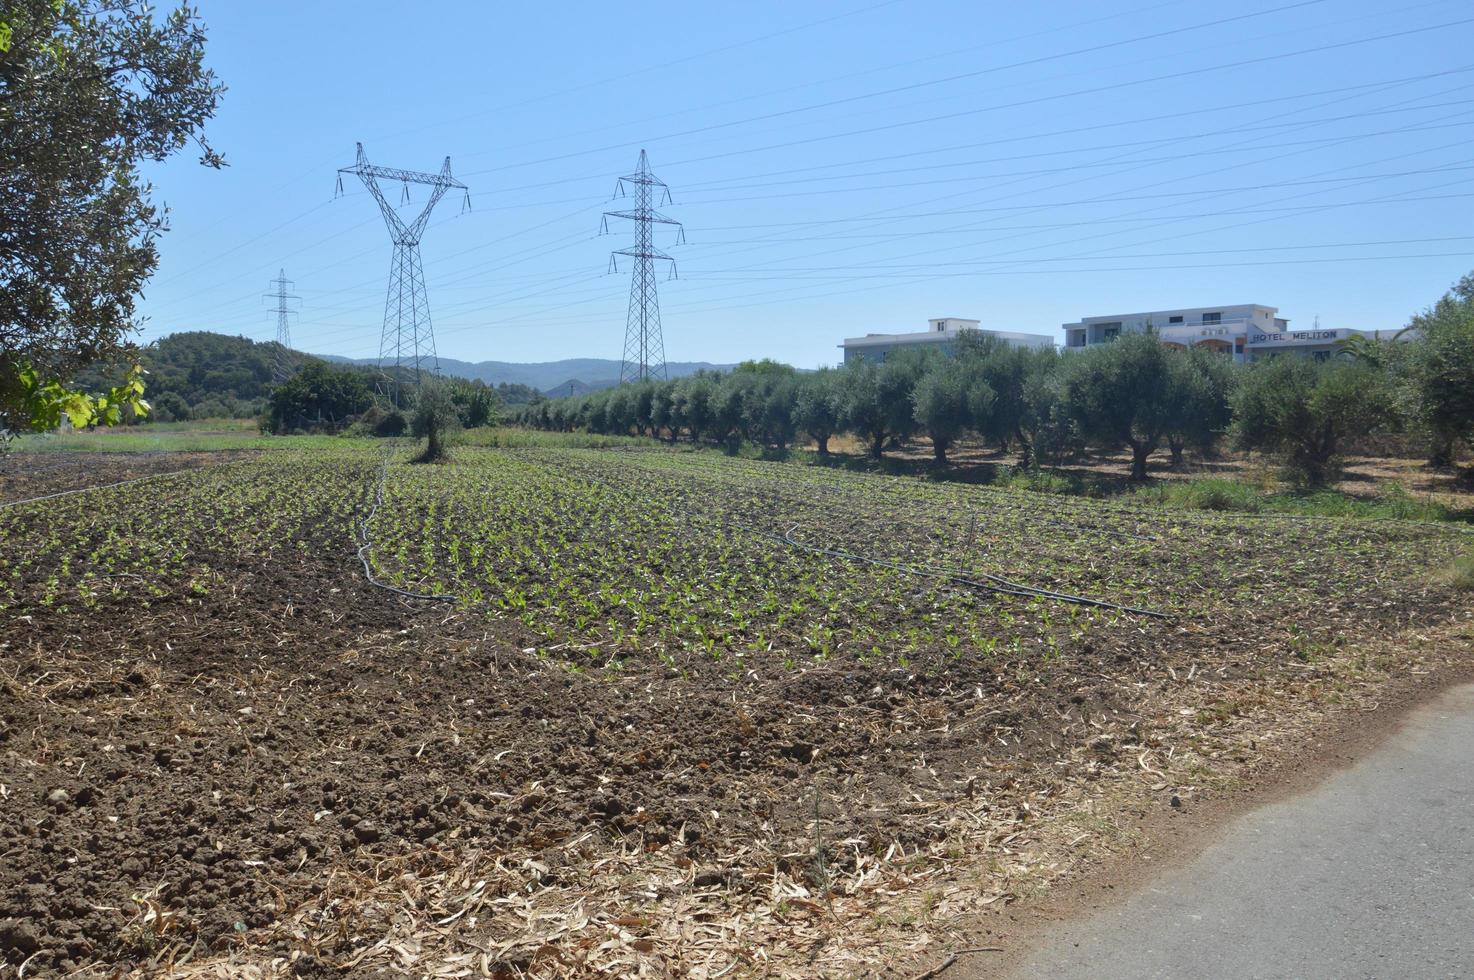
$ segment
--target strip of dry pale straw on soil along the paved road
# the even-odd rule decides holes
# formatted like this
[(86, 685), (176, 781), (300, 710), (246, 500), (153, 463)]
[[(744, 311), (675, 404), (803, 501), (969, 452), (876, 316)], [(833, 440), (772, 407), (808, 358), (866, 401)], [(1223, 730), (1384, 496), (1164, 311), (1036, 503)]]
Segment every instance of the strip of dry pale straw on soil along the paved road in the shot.
[[(820, 893), (811, 850), (753, 843), (699, 869), (662, 849), (610, 847), (584, 834), (559, 844), (565, 874), (495, 853), (453, 834), (444, 847), (358, 861), (333, 871), (321, 895), (227, 955), (180, 948), (155, 968), (171, 977), (287, 977), (314, 951), (352, 976), (856, 976), (945, 962), (971, 946), (979, 912), (1038, 895), (1088, 861), (1131, 847), (1148, 808), (1231, 785), (1266, 760), (1293, 757), (1340, 712), (1374, 710), (1394, 678), (1467, 668), (1474, 617), (1374, 645), (1343, 648), (1282, 675), (1229, 681), (1220, 672), (1166, 668), (1135, 724), (1092, 722), (1097, 735), (1052, 765), (983, 762), (995, 787), (952, 803), (918, 803), (914, 819), (936, 843), (865, 853), (858, 840), (825, 841), (852, 859)], [(907, 806), (898, 800), (898, 806)], [(845, 806), (827, 796), (824, 808)], [(818, 839), (822, 840), (822, 818)], [(576, 869), (570, 878), (567, 869)], [(286, 956), (270, 952), (286, 945)], [(149, 976), (155, 968), (134, 976)]]

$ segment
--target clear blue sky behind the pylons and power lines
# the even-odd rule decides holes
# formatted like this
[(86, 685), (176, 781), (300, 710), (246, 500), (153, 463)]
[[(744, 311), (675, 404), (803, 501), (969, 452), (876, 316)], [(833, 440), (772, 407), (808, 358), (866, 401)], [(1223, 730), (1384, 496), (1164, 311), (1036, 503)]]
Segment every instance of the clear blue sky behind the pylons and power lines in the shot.
[(940, 315), (1387, 329), (1474, 268), (1467, 0), (199, 7), (230, 168), (149, 172), (172, 228), (143, 339), (271, 339), (284, 268), (293, 346), (376, 355), (389, 236), (361, 186), (335, 199), (360, 140), (470, 186), (422, 246), (463, 360), (621, 355), (629, 228), (598, 217), (641, 147), (688, 239), (657, 234), (672, 361), (812, 367)]

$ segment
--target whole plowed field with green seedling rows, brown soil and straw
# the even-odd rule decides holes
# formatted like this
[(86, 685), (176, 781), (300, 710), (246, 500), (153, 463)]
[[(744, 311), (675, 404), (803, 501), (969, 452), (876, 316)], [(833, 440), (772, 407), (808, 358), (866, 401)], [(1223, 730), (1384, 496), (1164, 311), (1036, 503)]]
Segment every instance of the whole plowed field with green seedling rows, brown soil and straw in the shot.
[(0, 974), (899, 970), (1468, 623), (1446, 526), (408, 455), (0, 508)]

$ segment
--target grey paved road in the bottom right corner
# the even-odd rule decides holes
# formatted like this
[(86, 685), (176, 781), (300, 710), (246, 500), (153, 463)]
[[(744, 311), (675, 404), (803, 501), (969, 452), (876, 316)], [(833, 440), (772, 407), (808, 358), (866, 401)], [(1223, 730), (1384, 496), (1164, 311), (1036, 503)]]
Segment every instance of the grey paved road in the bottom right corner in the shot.
[(1016, 976), (1474, 977), (1474, 685), (1039, 942)]

